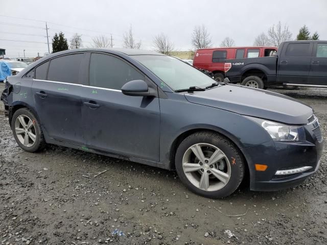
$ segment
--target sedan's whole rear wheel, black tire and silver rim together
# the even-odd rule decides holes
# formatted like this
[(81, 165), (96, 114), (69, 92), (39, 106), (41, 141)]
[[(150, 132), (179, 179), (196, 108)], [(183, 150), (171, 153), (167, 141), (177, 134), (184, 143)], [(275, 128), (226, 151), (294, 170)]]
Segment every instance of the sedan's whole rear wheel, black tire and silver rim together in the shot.
[(29, 109), (21, 108), (14, 113), (11, 129), (17, 144), (25, 151), (37, 152), (44, 148), (45, 140), (40, 122)]

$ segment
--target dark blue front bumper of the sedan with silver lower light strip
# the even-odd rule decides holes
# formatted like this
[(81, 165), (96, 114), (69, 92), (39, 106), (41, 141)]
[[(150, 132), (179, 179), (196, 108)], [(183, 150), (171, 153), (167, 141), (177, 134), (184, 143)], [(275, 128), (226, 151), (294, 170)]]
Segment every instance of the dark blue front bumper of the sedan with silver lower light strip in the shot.
[[(306, 141), (268, 141), (242, 149), (250, 171), (250, 189), (258, 191), (280, 190), (300, 184), (319, 168), (322, 138), (316, 137), (313, 125), (304, 126)], [(255, 164), (267, 165), (265, 171)]]

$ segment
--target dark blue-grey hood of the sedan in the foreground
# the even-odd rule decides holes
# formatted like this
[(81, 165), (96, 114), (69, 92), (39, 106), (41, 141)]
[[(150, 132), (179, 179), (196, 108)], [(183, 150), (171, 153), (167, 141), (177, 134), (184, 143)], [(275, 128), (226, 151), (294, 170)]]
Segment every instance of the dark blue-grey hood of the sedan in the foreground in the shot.
[(313, 109), (289, 96), (239, 85), (223, 85), (205, 91), (185, 93), (191, 103), (211, 106), (242, 115), (285, 124), (308, 124)]

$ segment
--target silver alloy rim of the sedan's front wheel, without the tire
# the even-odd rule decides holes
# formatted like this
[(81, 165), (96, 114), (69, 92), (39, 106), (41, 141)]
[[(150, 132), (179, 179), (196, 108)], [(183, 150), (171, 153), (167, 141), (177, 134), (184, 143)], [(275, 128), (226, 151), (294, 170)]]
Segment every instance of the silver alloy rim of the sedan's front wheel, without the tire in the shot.
[(197, 188), (217, 191), (227, 185), (231, 168), (222, 150), (208, 143), (192, 145), (183, 155), (186, 178)]

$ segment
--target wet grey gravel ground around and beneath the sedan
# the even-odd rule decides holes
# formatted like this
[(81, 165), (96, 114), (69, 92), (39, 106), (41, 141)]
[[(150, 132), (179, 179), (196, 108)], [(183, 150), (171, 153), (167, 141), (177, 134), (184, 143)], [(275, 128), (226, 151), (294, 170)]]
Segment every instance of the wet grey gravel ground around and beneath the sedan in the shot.
[[(327, 138), (327, 89), (274, 91), (314, 107)], [(2, 111), (0, 149), (1, 244), (327, 243), (326, 144), (300, 186), (242, 186), (222, 200), (193, 194), (174, 171), (54, 145), (24, 152)]]

